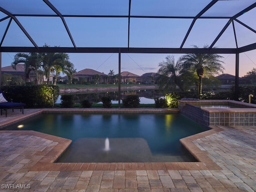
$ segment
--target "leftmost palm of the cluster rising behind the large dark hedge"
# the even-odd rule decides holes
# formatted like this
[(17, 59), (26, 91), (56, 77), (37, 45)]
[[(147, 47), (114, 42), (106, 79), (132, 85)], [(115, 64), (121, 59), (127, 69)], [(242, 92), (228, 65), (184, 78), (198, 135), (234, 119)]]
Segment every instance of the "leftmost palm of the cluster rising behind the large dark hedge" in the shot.
[(42, 66), (42, 54), (40, 53), (17, 53), (14, 56), (14, 62), (12, 62), (12, 68), (16, 69), (16, 66), (20, 63), (24, 63), (24, 71), (26, 74), (26, 82), (30, 81), (30, 72), (35, 72), (35, 84), (40, 84), (38, 78), (38, 70)]

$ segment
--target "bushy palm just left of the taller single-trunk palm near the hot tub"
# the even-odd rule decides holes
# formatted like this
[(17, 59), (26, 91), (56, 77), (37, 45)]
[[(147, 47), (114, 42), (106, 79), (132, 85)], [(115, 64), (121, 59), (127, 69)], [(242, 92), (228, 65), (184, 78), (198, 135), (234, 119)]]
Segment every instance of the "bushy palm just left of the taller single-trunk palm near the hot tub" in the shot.
[(183, 90), (182, 80), (181, 80), (181, 71), (182, 65), (179, 60), (175, 62), (175, 58), (172, 55), (165, 57), (165, 61), (159, 62), (158, 66), (158, 84), (159, 88), (168, 92), (169, 88), (172, 87), (173, 90), (176, 90), (176, 86), (179, 86)]

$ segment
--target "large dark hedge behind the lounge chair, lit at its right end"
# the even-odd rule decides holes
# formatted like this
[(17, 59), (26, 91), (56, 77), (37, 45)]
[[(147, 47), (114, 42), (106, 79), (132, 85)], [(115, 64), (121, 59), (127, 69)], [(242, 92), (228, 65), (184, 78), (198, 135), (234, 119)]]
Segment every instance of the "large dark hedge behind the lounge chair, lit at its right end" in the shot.
[(10, 85), (2, 86), (7, 98), (13, 102), (26, 103), (26, 107), (52, 107), (57, 101), (60, 89), (54, 85)]

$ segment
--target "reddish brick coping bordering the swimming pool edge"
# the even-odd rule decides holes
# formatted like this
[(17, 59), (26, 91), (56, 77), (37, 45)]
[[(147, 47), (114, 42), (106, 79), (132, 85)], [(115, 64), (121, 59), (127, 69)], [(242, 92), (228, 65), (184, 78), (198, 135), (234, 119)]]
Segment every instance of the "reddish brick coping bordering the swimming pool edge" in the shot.
[[(177, 109), (40, 109), (30, 112), (20, 117), (12, 118), (12, 120), (0, 124), (6, 126), (24, 118), (31, 117), (43, 112), (178, 112)], [(180, 139), (182, 145), (198, 160), (198, 162), (139, 162), (139, 163), (56, 163), (56, 160), (71, 144), (71, 140), (60, 138), (36, 131), (6, 131), (1, 130), (0, 133), (19, 133), (29, 134), (58, 142), (52, 150), (50, 150), (43, 158), (41, 158), (29, 171), (75, 171), (75, 170), (222, 170), (211, 158), (208, 157), (206, 151), (200, 150), (193, 141), (217, 132), (223, 129), (219, 126), (211, 126), (211, 129), (186, 138)]]

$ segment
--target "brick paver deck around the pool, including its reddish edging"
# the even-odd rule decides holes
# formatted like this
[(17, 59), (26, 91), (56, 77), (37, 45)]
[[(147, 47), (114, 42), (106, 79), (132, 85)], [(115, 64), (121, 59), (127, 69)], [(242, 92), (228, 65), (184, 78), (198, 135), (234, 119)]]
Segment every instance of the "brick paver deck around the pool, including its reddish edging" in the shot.
[[(0, 126), (48, 110), (57, 111), (15, 110), (0, 117)], [(34, 131), (0, 131), (0, 191), (256, 191), (255, 126), (213, 126), (182, 139), (200, 162), (54, 163), (70, 142)]]

